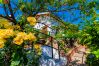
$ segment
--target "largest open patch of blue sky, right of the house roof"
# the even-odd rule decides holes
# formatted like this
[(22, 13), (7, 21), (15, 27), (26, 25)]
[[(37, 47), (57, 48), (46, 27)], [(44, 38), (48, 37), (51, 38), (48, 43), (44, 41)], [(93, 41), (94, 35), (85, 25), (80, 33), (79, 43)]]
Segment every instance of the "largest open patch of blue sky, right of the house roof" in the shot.
[[(72, 15), (72, 13), (74, 15)], [(60, 15), (60, 18), (63, 19), (65, 22), (70, 22), (73, 24), (78, 24), (79, 22), (81, 22), (80, 17), (80, 11), (79, 10), (74, 10), (72, 11), (72, 13), (70, 12), (58, 12), (57, 14)], [(76, 19), (76, 20), (74, 20)]]

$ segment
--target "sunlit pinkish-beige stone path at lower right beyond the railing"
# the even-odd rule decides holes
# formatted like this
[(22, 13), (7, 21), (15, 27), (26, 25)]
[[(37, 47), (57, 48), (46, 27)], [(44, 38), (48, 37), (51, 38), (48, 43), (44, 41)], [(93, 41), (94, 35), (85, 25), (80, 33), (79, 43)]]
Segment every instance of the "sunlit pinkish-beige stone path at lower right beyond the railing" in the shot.
[(78, 46), (73, 48), (68, 53), (69, 62), (72, 64), (76, 64), (79, 66), (80, 64), (85, 64), (86, 61), (86, 47), (85, 46)]

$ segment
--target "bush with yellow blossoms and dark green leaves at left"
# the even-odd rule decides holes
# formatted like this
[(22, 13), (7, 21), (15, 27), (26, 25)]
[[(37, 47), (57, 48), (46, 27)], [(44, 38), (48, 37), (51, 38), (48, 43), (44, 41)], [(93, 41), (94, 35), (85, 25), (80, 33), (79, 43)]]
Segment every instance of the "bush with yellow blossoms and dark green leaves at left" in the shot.
[[(24, 23), (23, 18), (20, 20)], [(37, 37), (33, 26), (36, 22), (33, 16), (27, 16), (24, 24), (0, 17), (0, 65), (38, 65), (41, 45), (35, 44)]]

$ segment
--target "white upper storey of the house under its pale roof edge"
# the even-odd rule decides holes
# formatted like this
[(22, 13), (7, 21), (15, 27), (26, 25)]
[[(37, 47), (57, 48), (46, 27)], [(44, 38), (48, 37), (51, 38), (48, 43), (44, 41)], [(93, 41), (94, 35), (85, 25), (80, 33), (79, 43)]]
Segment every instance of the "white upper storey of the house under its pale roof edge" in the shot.
[(51, 27), (51, 19), (50, 19), (50, 13), (49, 12), (43, 12), (43, 13), (38, 13), (36, 15), (37, 18), (37, 24), (34, 26), (37, 29), (42, 29), (42, 27), (44, 26), (48, 26), (47, 30), (49, 32), (51, 32), (51, 29), (49, 27)]

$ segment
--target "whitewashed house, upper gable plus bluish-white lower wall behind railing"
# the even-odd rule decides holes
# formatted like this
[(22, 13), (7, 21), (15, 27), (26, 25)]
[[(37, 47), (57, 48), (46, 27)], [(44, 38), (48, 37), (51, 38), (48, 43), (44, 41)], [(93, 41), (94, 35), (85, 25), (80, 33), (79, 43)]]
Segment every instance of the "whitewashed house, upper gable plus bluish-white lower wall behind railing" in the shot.
[[(36, 16), (37, 24), (34, 26), (36, 29), (42, 30), (43, 27), (46, 26), (47, 31), (52, 35), (54, 20), (50, 17), (49, 12), (38, 13)], [(56, 44), (55, 44), (56, 43)], [(57, 42), (53, 43), (54, 48), (58, 48)], [(55, 46), (54, 46), (55, 45)], [(42, 46), (42, 57), (40, 58), (40, 66), (65, 66), (67, 64), (66, 57), (60, 57), (58, 50), (54, 49), (50, 46)], [(53, 50), (53, 58), (52, 58), (52, 50)]]

